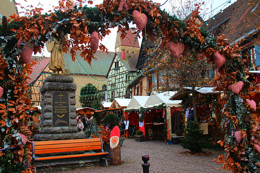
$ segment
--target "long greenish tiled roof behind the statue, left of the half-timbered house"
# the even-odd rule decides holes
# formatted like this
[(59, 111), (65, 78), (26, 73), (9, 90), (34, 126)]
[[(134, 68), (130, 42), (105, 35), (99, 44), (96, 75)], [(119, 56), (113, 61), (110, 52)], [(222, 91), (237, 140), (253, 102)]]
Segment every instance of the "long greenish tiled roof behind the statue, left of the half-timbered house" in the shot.
[[(76, 61), (73, 62), (69, 53), (64, 54), (65, 68), (69, 70), (71, 74), (90, 74), (90, 75), (102, 75), (106, 76), (109, 70), (110, 64), (114, 57), (114, 52), (106, 52), (97, 50), (94, 54), (97, 60), (93, 59), (91, 65), (83, 60), (80, 56), (80, 52), (77, 52)], [(78, 61), (77, 61), (78, 60)]]

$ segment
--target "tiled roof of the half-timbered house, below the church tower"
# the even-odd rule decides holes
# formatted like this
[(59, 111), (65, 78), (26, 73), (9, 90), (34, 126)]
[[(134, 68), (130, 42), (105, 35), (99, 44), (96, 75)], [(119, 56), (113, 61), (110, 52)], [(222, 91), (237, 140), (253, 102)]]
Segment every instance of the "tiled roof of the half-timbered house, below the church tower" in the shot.
[(136, 71), (136, 63), (138, 61), (137, 54), (126, 53), (126, 59), (122, 59), (122, 53), (116, 52), (117, 56), (121, 59), (122, 63), (129, 71)]

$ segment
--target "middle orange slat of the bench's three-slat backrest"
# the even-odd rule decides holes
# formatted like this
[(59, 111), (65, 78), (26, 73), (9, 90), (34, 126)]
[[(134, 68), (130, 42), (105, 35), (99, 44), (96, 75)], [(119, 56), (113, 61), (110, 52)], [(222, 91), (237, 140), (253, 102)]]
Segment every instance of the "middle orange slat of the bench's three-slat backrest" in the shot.
[(97, 146), (101, 145), (100, 142), (81, 142), (81, 143), (65, 143), (65, 144), (53, 144), (53, 145), (36, 145), (35, 150), (41, 149), (53, 149), (53, 148), (71, 148), (81, 146)]

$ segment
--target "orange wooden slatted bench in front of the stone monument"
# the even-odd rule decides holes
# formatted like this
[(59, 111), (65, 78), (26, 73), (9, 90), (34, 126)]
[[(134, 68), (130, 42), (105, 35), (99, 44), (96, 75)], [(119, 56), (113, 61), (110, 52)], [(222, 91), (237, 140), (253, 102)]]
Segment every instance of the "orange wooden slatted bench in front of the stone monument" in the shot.
[[(75, 155), (62, 155), (62, 156), (47, 156), (47, 157), (36, 156), (37, 154), (87, 151), (87, 150), (100, 150), (100, 152), (75, 154)], [(106, 166), (108, 166), (107, 154), (108, 152), (104, 152), (103, 150), (102, 138), (60, 140), (60, 141), (40, 141), (40, 142), (33, 142), (32, 159), (33, 159), (33, 164), (35, 164), (37, 161), (41, 161), (41, 160), (100, 156), (99, 161), (101, 161), (102, 157), (104, 157), (105, 164)], [(36, 165), (35, 165), (35, 171), (36, 171)]]

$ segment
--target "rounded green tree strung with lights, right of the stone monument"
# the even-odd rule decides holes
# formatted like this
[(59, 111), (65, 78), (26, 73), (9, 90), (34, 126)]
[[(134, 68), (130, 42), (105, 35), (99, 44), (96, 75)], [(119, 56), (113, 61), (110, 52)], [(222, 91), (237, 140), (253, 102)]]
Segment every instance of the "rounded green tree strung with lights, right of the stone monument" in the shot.
[(81, 107), (89, 107), (99, 110), (101, 107), (102, 96), (98, 94), (97, 87), (88, 83), (81, 88), (80, 102)]

